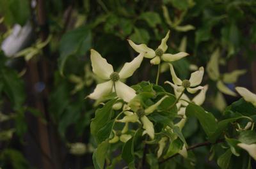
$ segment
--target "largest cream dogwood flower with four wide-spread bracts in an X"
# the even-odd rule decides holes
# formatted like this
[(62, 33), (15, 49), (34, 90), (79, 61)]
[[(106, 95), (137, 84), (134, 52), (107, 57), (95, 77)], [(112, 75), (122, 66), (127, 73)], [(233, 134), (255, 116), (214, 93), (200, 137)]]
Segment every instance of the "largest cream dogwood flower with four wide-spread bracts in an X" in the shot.
[(103, 80), (108, 80), (98, 84), (95, 90), (88, 96), (91, 99), (99, 99), (115, 91), (118, 98), (129, 102), (136, 96), (134, 89), (120, 81), (131, 77), (143, 60), (143, 53), (135, 57), (131, 62), (126, 62), (119, 73), (113, 70), (113, 66), (107, 62), (96, 50), (91, 50), (92, 71)]

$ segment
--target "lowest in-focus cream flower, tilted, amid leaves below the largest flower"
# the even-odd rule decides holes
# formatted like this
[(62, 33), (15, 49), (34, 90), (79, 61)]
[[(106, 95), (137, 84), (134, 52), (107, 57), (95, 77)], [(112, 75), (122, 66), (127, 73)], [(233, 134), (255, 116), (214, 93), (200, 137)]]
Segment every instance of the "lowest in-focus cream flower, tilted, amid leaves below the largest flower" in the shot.
[[(148, 119), (147, 115), (152, 114), (154, 110), (164, 101), (165, 98), (168, 96), (164, 96), (163, 98), (159, 99), (157, 103), (151, 105), (150, 107), (146, 108), (145, 110), (140, 108), (135, 113), (130, 111), (125, 111), (125, 116), (123, 119), (116, 120), (117, 122), (141, 122), (143, 124), (142, 128), (145, 129), (143, 134), (148, 134), (150, 138), (153, 140), (155, 137), (155, 130), (153, 123)], [(140, 121), (139, 121), (140, 120)]]

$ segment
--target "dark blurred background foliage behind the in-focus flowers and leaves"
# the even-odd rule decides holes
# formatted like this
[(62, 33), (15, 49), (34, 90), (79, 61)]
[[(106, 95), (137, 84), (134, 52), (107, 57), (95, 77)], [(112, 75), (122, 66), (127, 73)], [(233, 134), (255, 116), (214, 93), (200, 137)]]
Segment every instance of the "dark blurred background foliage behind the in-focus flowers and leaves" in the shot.
[[(93, 168), (95, 141), (90, 136), (90, 121), (99, 102), (84, 97), (99, 79), (91, 71), (90, 48), (118, 69), (137, 55), (127, 39), (157, 48), (170, 29), (168, 52), (189, 53), (189, 57), (173, 63), (179, 77), (188, 77), (191, 64), (207, 66), (218, 48), (218, 78), (227, 71), (246, 69), (237, 84), (256, 92), (256, 1), (1, 0), (0, 6), (3, 169)], [(22, 47), (8, 54), (3, 44), (12, 36), (15, 24), (29, 26), (32, 31), (26, 43), (16, 41)], [(22, 34), (26, 33), (19, 31), (15, 36)], [(8, 46), (14, 50), (15, 40)], [(143, 62), (128, 84), (154, 82), (156, 67)], [(161, 71), (163, 84), (170, 73), (164, 65)], [(229, 104), (238, 98), (220, 94), (216, 80), (207, 74), (204, 82), (210, 84), (205, 104), (220, 117), (221, 107), (216, 103)], [(225, 85), (234, 91), (234, 83)], [(195, 119), (188, 121), (184, 136), (189, 143), (204, 141)], [(195, 151), (200, 160), (195, 168), (218, 168), (205, 157), (209, 149)], [(179, 163), (172, 167), (187, 168)]]

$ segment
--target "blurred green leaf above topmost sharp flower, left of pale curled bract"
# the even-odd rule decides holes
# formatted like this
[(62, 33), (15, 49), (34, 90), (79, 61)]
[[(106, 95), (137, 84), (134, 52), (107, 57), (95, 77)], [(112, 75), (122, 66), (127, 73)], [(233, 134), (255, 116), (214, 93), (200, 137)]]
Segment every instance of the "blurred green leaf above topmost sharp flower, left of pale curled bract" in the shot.
[(145, 20), (150, 27), (156, 27), (157, 24), (161, 24), (161, 18), (159, 14), (154, 11), (146, 11), (141, 13), (140, 18)]

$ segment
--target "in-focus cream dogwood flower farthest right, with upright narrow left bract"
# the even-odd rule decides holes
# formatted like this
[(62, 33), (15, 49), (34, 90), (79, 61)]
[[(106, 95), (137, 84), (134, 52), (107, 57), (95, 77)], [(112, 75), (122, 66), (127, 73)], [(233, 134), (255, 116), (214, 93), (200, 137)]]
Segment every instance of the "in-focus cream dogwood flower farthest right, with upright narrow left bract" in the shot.
[[(191, 73), (189, 80), (180, 80), (180, 78), (178, 78), (177, 75), (175, 74), (172, 64), (169, 65), (173, 83), (178, 86), (176, 89), (177, 92), (182, 92), (186, 89), (188, 92), (193, 94), (198, 90), (204, 89), (204, 87), (200, 86), (204, 76), (204, 67), (200, 67), (198, 71)], [(172, 83), (168, 81), (164, 83), (172, 85)]]

